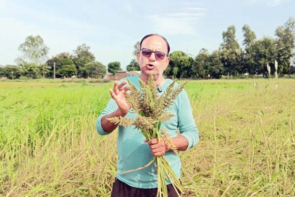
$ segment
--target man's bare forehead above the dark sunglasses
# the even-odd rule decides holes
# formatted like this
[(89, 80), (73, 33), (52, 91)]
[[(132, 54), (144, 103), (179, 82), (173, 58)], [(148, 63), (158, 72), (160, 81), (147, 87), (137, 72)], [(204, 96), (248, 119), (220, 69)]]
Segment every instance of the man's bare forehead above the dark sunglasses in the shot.
[(143, 43), (142, 48), (148, 48), (150, 50), (168, 52), (166, 41), (158, 35), (152, 35), (147, 37)]

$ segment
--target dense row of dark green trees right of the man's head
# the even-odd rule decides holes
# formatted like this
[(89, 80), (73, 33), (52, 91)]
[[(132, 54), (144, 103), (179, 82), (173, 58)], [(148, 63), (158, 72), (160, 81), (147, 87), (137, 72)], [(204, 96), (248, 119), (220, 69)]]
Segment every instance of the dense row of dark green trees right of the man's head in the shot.
[[(277, 27), (275, 37), (264, 36), (257, 39), (248, 25), (242, 27), (243, 47), (236, 40), (236, 28), (229, 26), (222, 33), (223, 42), (217, 50), (209, 53), (203, 48), (192, 57), (182, 51), (170, 54), (170, 66), (165, 74), (177, 78), (221, 78), (225, 76), (275, 74), (275, 61), (278, 63), (277, 74), (295, 74), (295, 19), (290, 17)], [(293, 66), (292, 66), (293, 65)]]

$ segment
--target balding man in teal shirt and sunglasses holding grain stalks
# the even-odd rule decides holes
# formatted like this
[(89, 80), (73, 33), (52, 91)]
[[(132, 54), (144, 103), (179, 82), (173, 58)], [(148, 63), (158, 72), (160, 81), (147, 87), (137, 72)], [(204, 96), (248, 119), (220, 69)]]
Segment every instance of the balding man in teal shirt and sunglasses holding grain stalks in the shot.
[[(167, 87), (173, 82), (163, 77), (167, 68), (170, 46), (166, 38), (158, 34), (146, 35), (140, 43), (140, 51), (137, 53), (137, 61), (141, 68), (140, 76), (128, 77), (128, 79), (139, 88), (139, 78), (148, 82), (148, 77), (154, 75), (155, 84), (160, 87), (159, 95), (163, 94)], [(109, 134), (117, 128), (117, 125), (109, 122), (107, 118), (115, 116), (127, 116), (133, 118), (136, 114), (130, 113), (130, 106), (125, 100), (125, 94), (129, 90), (125, 86), (127, 81), (122, 79), (116, 81), (114, 88), (110, 90), (112, 99), (107, 104), (97, 119), (96, 128), (99, 134)], [(170, 112), (175, 116), (169, 121), (161, 124), (161, 129), (169, 132), (177, 150), (184, 151), (192, 148), (199, 141), (199, 133), (194, 122), (189, 99), (184, 90), (177, 96)], [(180, 135), (177, 135), (179, 128)], [(143, 134), (133, 126), (118, 128), (118, 174), (113, 185), (112, 197), (156, 197), (157, 173), (151, 164), (144, 169), (128, 173), (119, 173), (142, 167), (151, 160), (153, 156), (164, 155), (177, 177), (180, 178), (181, 163), (179, 157), (170, 150), (164, 140), (147, 140)], [(169, 197), (176, 197), (177, 193), (170, 182), (166, 181)]]

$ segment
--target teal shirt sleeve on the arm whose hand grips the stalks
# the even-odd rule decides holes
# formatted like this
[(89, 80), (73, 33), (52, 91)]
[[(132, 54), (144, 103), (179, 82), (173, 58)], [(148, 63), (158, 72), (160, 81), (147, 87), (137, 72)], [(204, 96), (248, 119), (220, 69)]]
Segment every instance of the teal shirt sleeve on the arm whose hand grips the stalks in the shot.
[(178, 127), (180, 134), (188, 140), (188, 147), (194, 147), (199, 141), (199, 131), (195, 124), (192, 108), (185, 90), (182, 90), (177, 97)]

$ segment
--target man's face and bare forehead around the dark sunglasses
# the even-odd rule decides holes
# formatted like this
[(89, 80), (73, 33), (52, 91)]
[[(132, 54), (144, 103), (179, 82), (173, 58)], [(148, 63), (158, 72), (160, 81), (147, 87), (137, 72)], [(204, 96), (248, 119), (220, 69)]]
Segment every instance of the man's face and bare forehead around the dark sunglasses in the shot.
[[(142, 42), (141, 48), (146, 48), (153, 52), (160, 51), (165, 54), (168, 53), (165, 40), (158, 35), (152, 35), (146, 38)], [(158, 78), (163, 76), (163, 72), (167, 68), (170, 58), (165, 56), (163, 60), (157, 60), (155, 53), (152, 53), (148, 58), (142, 55), (142, 51), (139, 51), (137, 53), (137, 61), (139, 63), (142, 75), (146, 75), (148, 77), (152, 72), (152, 74)]]

